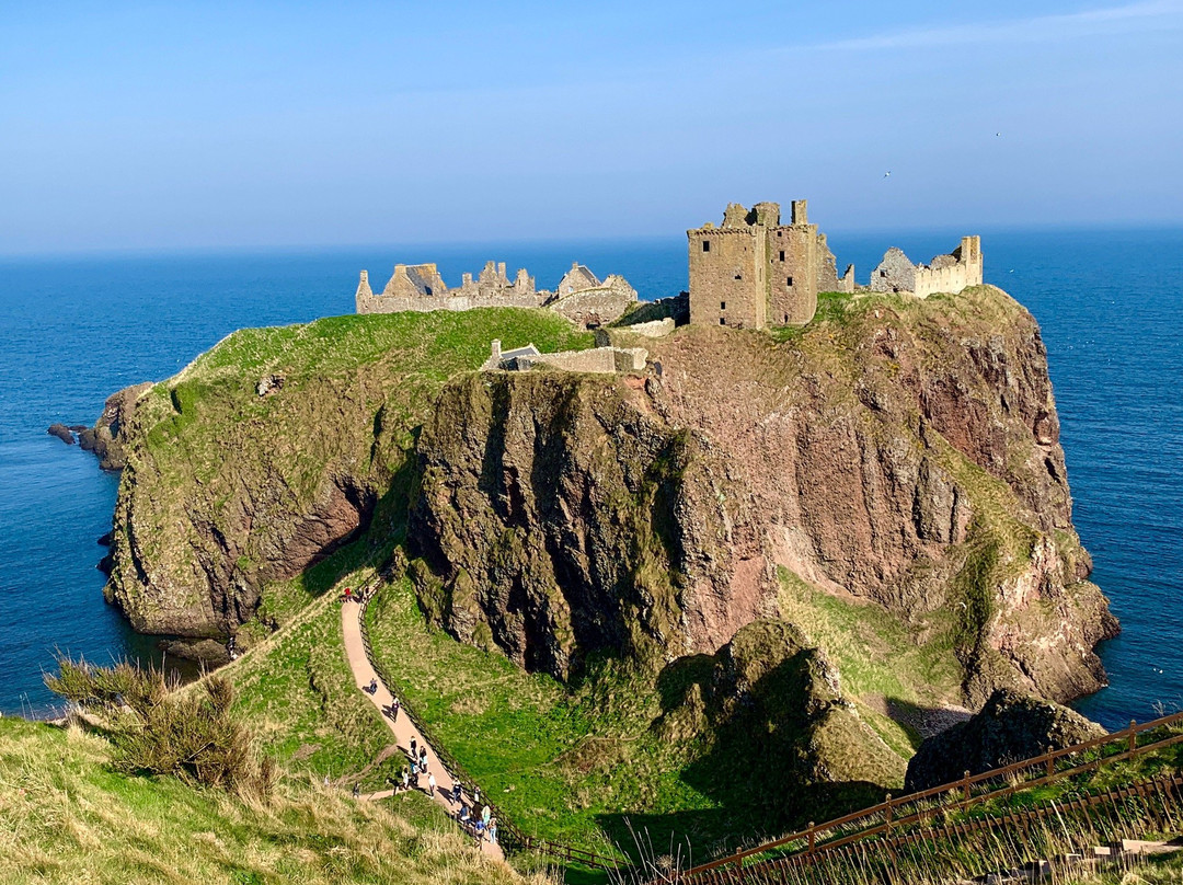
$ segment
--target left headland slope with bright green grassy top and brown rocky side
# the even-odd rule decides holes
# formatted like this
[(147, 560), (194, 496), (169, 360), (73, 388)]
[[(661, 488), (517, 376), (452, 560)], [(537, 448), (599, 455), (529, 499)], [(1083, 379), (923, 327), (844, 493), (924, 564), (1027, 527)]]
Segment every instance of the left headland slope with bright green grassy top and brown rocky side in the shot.
[[(237, 331), (112, 396), (92, 434), (104, 466), (123, 469), (108, 597), (136, 629), (186, 638), (291, 614), (309, 588), (290, 579), (375, 518), (390, 543), (414, 428), (498, 336), (590, 343), (545, 310), (327, 317)], [(269, 608), (265, 589), (285, 581), (290, 597)]]

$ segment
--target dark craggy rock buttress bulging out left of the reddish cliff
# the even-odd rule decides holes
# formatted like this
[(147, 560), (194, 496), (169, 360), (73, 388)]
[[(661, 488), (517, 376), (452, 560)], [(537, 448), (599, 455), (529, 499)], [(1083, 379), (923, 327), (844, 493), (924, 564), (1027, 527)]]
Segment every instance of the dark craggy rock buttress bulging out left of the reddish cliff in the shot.
[(418, 451), (420, 600), (466, 641), (565, 678), (599, 648), (713, 652), (770, 611), (724, 465), (614, 379), (466, 377)]

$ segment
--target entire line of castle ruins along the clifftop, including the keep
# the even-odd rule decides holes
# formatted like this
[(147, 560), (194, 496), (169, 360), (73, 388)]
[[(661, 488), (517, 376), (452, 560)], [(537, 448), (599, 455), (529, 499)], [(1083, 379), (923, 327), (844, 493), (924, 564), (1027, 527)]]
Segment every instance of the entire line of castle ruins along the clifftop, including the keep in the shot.
[[(686, 322), (689, 302), (690, 322), (697, 325), (802, 325), (813, 319), (819, 292), (896, 292), (925, 298), (982, 284), (981, 238), (963, 237), (951, 253), (929, 264), (912, 264), (893, 246), (872, 271), (868, 285), (856, 285), (853, 264), (838, 276), (834, 253), (826, 234), (809, 224), (804, 200), (793, 201), (788, 224), (781, 224), (780, 204), (758, 202), (751, 209), (730, 204), (720, 226), (707, 222), (686, 231), (686, 240), (690, 291), (680, 296), (686, 301), (678, 322)], [(369, 273), (362, 271), (355, 301), (358, 314), (548, 308), (576, 325), (596, 329), (631, 311), (638, 297), (623, 277), (614, 273), (600, 280), (577, 261), (554, 291), (537, 289), (524, 269), (510, 279), (504, 261), (489, 261), (476, 278), (465, 273), (457, 289), (448, 289), (434, 264), (396, 264), (379, 295), (370, 289)], [(668, 334), (671, 323), (660, 321), (660, 315), (655, 316), (653, 322), (638, 324), (635, 331)]]

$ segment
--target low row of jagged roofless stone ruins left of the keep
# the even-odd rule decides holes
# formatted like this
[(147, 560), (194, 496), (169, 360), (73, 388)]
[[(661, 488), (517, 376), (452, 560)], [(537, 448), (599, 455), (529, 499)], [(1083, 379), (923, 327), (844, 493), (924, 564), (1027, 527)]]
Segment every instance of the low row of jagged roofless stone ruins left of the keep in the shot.
[(361, 272), (354, 296), (358, 314), (403, 310), (471, 310), (473, 308), (549, 308), (583, 328), (606, 325), (636, 302), (636, 290), (619, 274), (600, 280), (573, 263), (555, 291), (538, 290), (524, 269), (510, 280), (505, 263), (489, 261), (476, 278), (465, 273), (460, 286), (448, 289), (434, 264), (396, 264), (386, 288), (374, 295), (369, 272)]

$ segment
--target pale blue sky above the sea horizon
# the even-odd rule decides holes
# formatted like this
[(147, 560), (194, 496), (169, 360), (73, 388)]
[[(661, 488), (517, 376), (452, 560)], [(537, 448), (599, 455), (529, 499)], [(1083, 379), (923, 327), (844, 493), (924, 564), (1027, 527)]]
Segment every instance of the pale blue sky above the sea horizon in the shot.
[(829, 230), (1183, 222), (1183, 0), (0, 5), (4, 253), (797, 196)]

